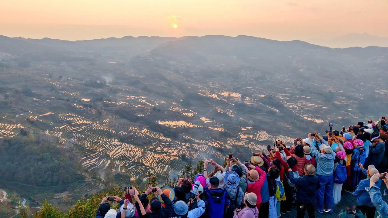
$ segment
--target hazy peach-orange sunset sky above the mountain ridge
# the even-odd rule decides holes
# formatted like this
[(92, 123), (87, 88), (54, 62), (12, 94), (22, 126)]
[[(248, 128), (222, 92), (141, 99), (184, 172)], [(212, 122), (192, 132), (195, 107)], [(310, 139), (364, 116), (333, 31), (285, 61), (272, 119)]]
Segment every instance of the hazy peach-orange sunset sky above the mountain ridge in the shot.
[[(388, 0), (0, 0), (0, 34), (68, 40), (250, 35), (388, 37)], [(173, 28), (176, 24), (177, 28)]]

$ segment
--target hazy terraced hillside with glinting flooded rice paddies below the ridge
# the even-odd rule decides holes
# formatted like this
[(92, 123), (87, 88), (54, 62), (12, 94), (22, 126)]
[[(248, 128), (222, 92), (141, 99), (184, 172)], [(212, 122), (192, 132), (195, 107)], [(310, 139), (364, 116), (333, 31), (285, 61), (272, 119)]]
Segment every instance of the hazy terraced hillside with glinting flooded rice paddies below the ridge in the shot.
[[(387, 57), (388, 48), (376, 46), (250, 36), (1, 36), (0, 148), (18, 144), (12, 152), (29, 149), (25, 160), (42, 166), (15, 174), (3, 165), (9, 177), (0, 188), (29, 204), (74, 203), (80, 193), (145, 181), (151, 171), (163, 181), (186, 163), (221, 161), (229, 151), (248, 160), (275, 139), (322, 133), (329, 121), (340, 129), (376, 119), (388, 106)], [(26, 165), (5, 151), (1, 160)], [(45, 188), (62, 185), (53, 159), (71, 185)], [(52, 176), (36, 175), (39, 167)], [(10, 183), (29, 178), (28, 189)]]

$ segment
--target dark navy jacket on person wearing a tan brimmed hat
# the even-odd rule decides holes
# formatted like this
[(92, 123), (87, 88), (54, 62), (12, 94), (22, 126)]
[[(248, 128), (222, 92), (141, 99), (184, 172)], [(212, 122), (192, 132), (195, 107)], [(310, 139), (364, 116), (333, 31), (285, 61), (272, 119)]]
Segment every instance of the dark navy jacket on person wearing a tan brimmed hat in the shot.
[(296, 185), (296, 199), (302, 204), (317, 201), (316, 191), (320, 188), (319, 179), (316, 175), (302, 175), (299, 178), (294, 177), (294, 173), (288, 173), (290, 181)]

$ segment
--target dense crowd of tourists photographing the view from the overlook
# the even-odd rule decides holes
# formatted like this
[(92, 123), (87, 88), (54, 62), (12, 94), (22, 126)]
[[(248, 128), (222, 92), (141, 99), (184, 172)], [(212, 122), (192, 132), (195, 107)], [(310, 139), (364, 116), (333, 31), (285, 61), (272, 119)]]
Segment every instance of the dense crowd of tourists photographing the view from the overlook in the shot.
[[(236, 154), (229, 154), (226, 167), (205, 160), (194, 181), (180, 178), (174, 187), (149, 186), (142, 194), (133, 187), (124, 200), (114, 196), (118, 210), (106, 196), (96, 218), (279, 218), (292, 207), (297, 218), (314, 218), (333, 214), (345, 191), (356, 202), (342, 214), (387, 218), (380, 191), (386, 187), (388, 194), (387, 131), (388, 120), (381, 117), (322, 135), (311, 132), (291, 145), (276, 141), (267, 152), (253, 153), (249, 163)], [(153, 191), (158, 196), (148, 199)]]

